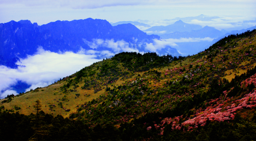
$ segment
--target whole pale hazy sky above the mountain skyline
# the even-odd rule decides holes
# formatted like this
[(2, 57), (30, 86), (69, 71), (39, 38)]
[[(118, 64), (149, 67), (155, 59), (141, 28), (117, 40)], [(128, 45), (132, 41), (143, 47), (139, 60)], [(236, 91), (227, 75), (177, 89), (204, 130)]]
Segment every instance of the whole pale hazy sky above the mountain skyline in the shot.
[(31, 20), (39, 25), (56, 20), (164, 20), (200, 14), (250, 19), (255, 0), (0, 0), (0, 23)]

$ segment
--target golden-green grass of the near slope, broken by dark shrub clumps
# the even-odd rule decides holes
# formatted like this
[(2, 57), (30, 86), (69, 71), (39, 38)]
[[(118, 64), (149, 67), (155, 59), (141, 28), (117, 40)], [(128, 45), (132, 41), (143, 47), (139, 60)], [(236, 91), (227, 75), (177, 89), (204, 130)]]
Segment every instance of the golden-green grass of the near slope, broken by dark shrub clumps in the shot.
[[(140, 112), (136, 112), (134, 116), (128, 113), (123, 113), (120, 115), (116, 114), (117, 116), (114, 115), (113, 117), (109, 115), (108, 118), (115, 119), (114, 120), (115, 122), (113, 123), (119, 125), (122, 122), (131, 121), (132, 119), (136, 118), (137, 115), (138, 117), (141, 117), (149, 112), (164, 112), (168, 109), (172, 109), (172, 105), (174, 105), (175, 102), (177, 103), (178, 101), (187, 100), (187, 98), (192, 96), (191, 94), (196, 95), (196, 94), (207, 92), (208, 87), (210, 85), (208, 82), (211, 82), (212, 78), (218, 78), (218, 79), (227, 78), (227, 80), (230, 81), (236, 75), (241, 75), (242, 73), (246, 72), (248, 68), (253, 68), (253, 66), (256, 66), (255, 39), (256, 37), (254, 32), (252, 33), (251, 37), (235, 38), (233, 40), (227, 41), (227, 43), (221, 44), (220, 45), (221, 48), (218, 48), (218, 51), (212, 47), (206, 50), (205, 52), (196, 54), (195, 56), (186, 57), (185, 59), (182, 59), (182, 60), (173, 61), (172, 63), (165, 63), (161, 66), (150, 68), (150, 70), (157, 70), (158, 72), (161, 71), (160, 73), (161, 77), (157, 76), (157, 73), (152, 73), (152, 71), (150, 71), (150, 73), (148, 73), (148, 71), (134, 71), (136, 68), (140, 67), (140, 66), (136, 66), (136, 63), (134, 63), (134, 61), (135, 62), (138, 61), (136, 60), (136, 58), (132, 59), (131, 61), (128, 61), (129, 63), (132, 62), (134, 64), (131, 64), (131, 66), (125, 66), (124, 61), (123, 63), (121, 63), (122, 61), (119, 61), (120, 58), (114, 57), (115, 60), (108, 59), (99, 63), (95, 63), (90, 67), (84, 68), (84, 70), (81, 70), (81, 72), (86, 73), (86, 75), (83, 75), (77, 81), (76, 81), (77, 74), (70, 75), (70, 77), (65, 78), (65, 80), (56, 82), (56, 84), (52, 84), (44, 88), (38, 88), (34, 91), (21, 94), (20, 96), (15, 96), (15, 98), (13, 98), (13, 100), (10, 101), (10, 103), (3, 103), (3, 104), (0, 104), (0, 106), (3, 105), (6, 109), (12, 109), (12, 108), (14, 109), (14, 106), (17, 105), (21, 109), (15, 110), (15, 111), (19, 111), (20, 114), (28, 115), (31, 112), (35, 112), (33, 111), (32, 105), (35, 103), (36, 100), (40, 100), (42, 101), (42, 110), (44, 110), (46, 113), (52, 113), (53, 115), (61, 114), (64, 117), (69, 117), (70, 114), (79, 115), (83, 112), (88, 113), (90, 110), (96, 109), (96, 108), (97, 110), (99, 109), (107, 110), (109, 109), (108, 108), (109, 105), (113, 105), (112, 104), (113, 101), (122, 99), (122, 94), (125, 96), (127, 96), (128, 94), (134, 95), (132, 94), (133, 90), (138, 89), (138, 87), (141, 87), (140, 85), (142, 84), (131, 85), (131, 82), (133, 80), (138, 80), (138, 78), (144, 78), (145, 86), (147, 86), (148, 91), (143, 90), (143, 93), (145, 94), (143, 96), (139, 96), (140, 99), (136, 100), (136, 101), (140, 101), (140, 103), (137, 105), (136, 104), (131, 105), (128, 108), (125, 108), (127, 107), (127, 105), (125, 105), (124, 100), (123, 101), (121, 100), (122, 102), (120, 104), (121, 108), (125, 108), (129, 110), (131, 113), (134, 112), (134, 109), (136, 107), (137, 107), (136, 110), (140, 110)], [(250, 54), (253, 54), (253, 56), (246, 55), (245, 54), (246, 51), (250, 51)], [(212, 62), (211, 62), (211, 54), (212, 56), (214, 56), (214, 59), (212, 59)], [(243, 55), (243, 58), (241, 55)], [(226, 59), (224, 56), (227, 56)], [(154, 61), (152, 62), (154, 63)], [(236, 65), (234, 62), (236, 62)], [(101, 70), (105, 64), (108, 64), (108, 66), (105, 67), (106, 69), (104, 73), (101, 73)], [(190, 64), (192, 65), (192, 68), (189, 68)], [(202, 67), (200, 65), (202, 65)], [(201, 71), (197, 70), (198, 67), (201, 67), (199, 68)], [(127, 68), (130, 68), (130, 69), (127, 70)], [(175, 73), (174, 73), (175, 68), (177, 68), (177, 70), (175, 70)], [(180, 73), (179, 70), (183, 68), (185, 68), (185, 71)], [(132, 71), (132, 69), (134, 70)], [(92, 71), (94, 71), (94, 73), (90, 73)], [(164, 77), (165, 73), (168, 73), (166, 77)], [(140, 74), (140, 77), (138, 77), (138, 74)], [(188, 86), (187, 91), (182, 91), (182, 94), (179, 94), (179, 95), (175, 94), (175, 92), (173, 91), (170, 91), (170, 89), (172, 89), (172, 86), (170, 86), (171, 87), (170, 88), (168, 85), (166, 85), (166, 82), (170, 82), (170, 81), (175, 82), (176, 80), (177, 82), (180, 82), (180, 80), (182, 80), (182, 78), (186, 75), (188, 75), (188, 77), (191, 78), (191, 80), (196, 81), (196, 83), (189, 82), (190, 84), (187, 85)], [(85, 84), (84, 82), (85, 79), (86, 79), (86, 82), (90, 81), (91, 84), (88, 84), (88, 88), (90, 89), (82, 89), (82, 87)], [(73, 81), (70, 82), (70, 80), (73, 80)], [(113, 80), (113, 83), (109, 82), (110, 80)], [(204, 84), (203, 85), (204, 87), (203, 86), (200, 87), (201, 85), (199, 84), (200, 82)], [(67, 85), (68, 83), (70, 84), (70, 87), (68, 88), (66, 87), (66, 89), (63, 89), (63, 85), (64, 84)], [(129, 89), (128, 88), (117, 89), (117, 87), (122, 84), (130, 85)], [(198, 86), (195, 86), (195, 85), (198, 85)], [(77, 88), (74, 89), (74, 87), (77, 87)], [(118, 90), (118, 92), (116, 93), (115, 91), (114, 92), (106, 91), (106, 87), (110, 87), (110, 89), (114, 89), (115, 91)], [(74, 89), (75, 91), (71, 92), (70, 89)], [(101, 89), (101, 90), (95, 93), (94, 89)], [(195, 93), (191, 93), (192, 89), (195, 91)], [(159, 90), (164, 91), (163, 98), (157, 95), (157, 93), (159, 93)], [(152, 94), (150, 95), (150, 93)], [(76, 97), (76, 94), (80, 94), (80, 96)], [(88, 94), (90, 96), (86, 96), (85, 94)], [(112, 94), (115, 94), (115, 97), (113, 97)], [(68, 101), (61, 100), (64, 96), (67, 97)], [(169, 96), (169, 99), (166, 100), (168, 96)], [(83, 107), (81, 111), (77, 111), (77, 108), (81, 107), (81, 105), (82, 106), (88, 105), (88, 101), (92, 101), (93, 99), (97, 101), (96, 102), (97, 104), (93, 103), (88, 107)], [(159, 102), (161, 100), (164, 101), (163, 104)], [(0, 102), (1, 101), (3, 100), (0, 100)], [(99, 107), (99, 104), (102, 103), (103, 101), (105, 105), (100, 105), (101, 107)], [(158, 101), (158, 103), (156, 101)], [(70, 111), (66, 112), (63, 108), (61, 108), (58, 105), (58, 103), (60, 102), (63, 103), (63, 108), (70, 109)], [(153, 103), (156, 103), (156, 105)], [(49, 107), (52, 104), (56, 105), (56, 107), (50, 110)], [(116, 108), (115, 106), (113, 107), (110, 108), (111, 111), (115, 110)], [(195, 109), (195, 107), (191, 107), (191, 108), (194, 108), (193, 111), (197, 110)], [(97, 110), (95, 110), (95, 112)], [(106, 115), (106, 114), (101, 113), (100, 116), (101, 115)], [(96, 120), (95, 122), (93, 122), (94, 119), (93, 119), (93, 116), (91, 115), (85, 114), (79, 118), (85, 119), (85, 120), (92, 119), (92, 126), (96, 124)], [(124, 121), (124, 119), (128, 119), (128, 120)], [(100, 122), (105, 122), (104, 118)]]

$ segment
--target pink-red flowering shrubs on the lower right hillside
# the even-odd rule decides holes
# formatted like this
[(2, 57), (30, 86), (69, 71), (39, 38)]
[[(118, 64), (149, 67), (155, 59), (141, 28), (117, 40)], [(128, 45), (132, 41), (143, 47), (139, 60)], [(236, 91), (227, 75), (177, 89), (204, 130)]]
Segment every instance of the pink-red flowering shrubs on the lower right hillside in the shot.
[[(256, 87), (256, 74), (241, 82), (241, 85), (245, 85), (245, 87), (247, 87), (252, 83)], [(165, 123), (172, 124), (172, 130), (180, 130), (182, 127), (187, 126), (188, 131), (191, 131), (193, 130), (193, 128), (198, 128), (198, 126), (205, 126), (207, 121), (223, 122), (233, 120), (235, 118), (237, 110), (241, 110), (243, 108), (252, 109), (256, 107), (256, 90), (250, 92), (249, 94), (245, 94), (244, 97), (239, 100), (232, 101), (232, 103), (228, 103), (228, 101), (230, 101), (230, 98), (226, 98), (228, 92), (223, 91), (223, 94), (225, 95), (225, 101), (221, 100), (221, 98), (211, 100), (208, 103), (210, 106), (205, 108), (205, 110), (202, 110), (202, 108), (196, 110), (196, 114), (192, 115), (195, 117), (193, 117), (192, 119), (189, 118), (187, 121), (184, 121), (180, 124), (179, 121), (180, 119), (182, 119), (182, 115), (175, 117), (173, 119), (172, 117), (166, 117), (161, 121), (160, 126), (163, 127)], [(215, 103), (215, 105), (212, 105), (212, 103)], [(223, 103), (225, 103), (225, 105), (227, 106), (224, 106)], [(157, 124), (154, 124), (154, 126), (156, 127), (156, 129), (159, 129), (160, 127), (157, 126)], [(163, 135), (163, 131), (164, 127), (161, 128), (160, 135)]]

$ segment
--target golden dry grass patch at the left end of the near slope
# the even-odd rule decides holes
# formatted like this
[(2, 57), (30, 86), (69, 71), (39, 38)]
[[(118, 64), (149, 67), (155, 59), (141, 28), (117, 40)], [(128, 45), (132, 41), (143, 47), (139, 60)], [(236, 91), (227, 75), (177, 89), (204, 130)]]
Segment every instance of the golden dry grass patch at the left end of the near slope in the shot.
[[(94, 93), (94, 89), (83, 90), (81, 87), (78, 87), (77, 91), (74, 92), (62, 93), (60, 91), (60, 87), (63, 84), (64, 83), (52, 84), (44, 88), (39, 88), (36, 92), (31, 91), (21, 96), (15, 96), (10, 103), (3, 103), (1, 105), (3, 105), (6, 109), (14, 109), (14, 106), (16, 105), (20, 107), (20, 110), (18, 110), (20, 114), (29, 115), (31, 113), (35, 113), (33, 105), (35, 105), (36, 100), (40, 100), (42, 103), (42, 110), (44, 110), (45, 113), (52, 115), (60, 114), (63, 115), (63, 117), (68, 117), (70, 113), (76, 112), (77, 105), (81, 105), (86, 101), (96, 99), (100, 96), (100, 94), (105, 93), (104, 89)], [(77, 96), (77, 98), (76, 93), (80, 94), (80, 96)], [(86, 94), (90, 94), (90, 96), (87, 96)], [(67, 98), (68, 101), (63, 101), (62, 99), (64, 97)], [(62, 103), (63, 108), (70, 109), (70, 111), (66, 112), (63, 108), (61, 108), (60, 105), (58, 105), (60, 102)], [(50, 109), (49, 105), (55, 105), (55, 107)]]

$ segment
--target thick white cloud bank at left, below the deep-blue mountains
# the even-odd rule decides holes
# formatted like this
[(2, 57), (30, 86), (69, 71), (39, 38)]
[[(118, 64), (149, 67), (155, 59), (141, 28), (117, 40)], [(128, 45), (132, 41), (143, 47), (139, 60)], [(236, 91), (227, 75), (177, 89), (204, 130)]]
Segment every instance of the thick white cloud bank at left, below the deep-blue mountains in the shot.
[(55, 80), (76, 73), (85, 66), (101, 61), (101, 59), (95, 59), (95, 57), (97, 56), (75, 54), (73, 52), (57, 54), (38, 48), (38, 52), (34, 56), (28, 56), (26, 59), (20, 59), (20, 62), (17, 62), (17, 64), (24, 66), (19, 66), (17, 69), (0, 66), (0, 97), (3, 98), (11, 93), (17, 94), (10, 87), (15, 85), (17, 80), (31, 85), (29, 89), (45, 87)]

